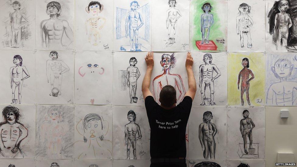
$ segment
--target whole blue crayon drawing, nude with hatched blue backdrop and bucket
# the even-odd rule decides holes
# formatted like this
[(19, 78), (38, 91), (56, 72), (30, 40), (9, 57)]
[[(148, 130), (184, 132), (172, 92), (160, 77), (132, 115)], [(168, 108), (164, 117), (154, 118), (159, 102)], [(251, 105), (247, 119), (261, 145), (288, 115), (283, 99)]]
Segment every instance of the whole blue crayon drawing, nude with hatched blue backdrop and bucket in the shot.
[(116, 39), (121, 51), (146, 51), (150, 47), (149, 4), (130, 3), (130, 9), (116, 9)]

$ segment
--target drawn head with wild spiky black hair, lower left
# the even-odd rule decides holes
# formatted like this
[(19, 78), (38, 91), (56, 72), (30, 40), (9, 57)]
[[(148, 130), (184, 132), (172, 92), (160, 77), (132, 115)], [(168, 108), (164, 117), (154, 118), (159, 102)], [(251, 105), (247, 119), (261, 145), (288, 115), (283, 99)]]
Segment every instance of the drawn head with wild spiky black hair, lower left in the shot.
[(19, 113), (19, 109), (14, 106), (6, 106), (2, 110), (2, 116), (4, 117), (5, 122), (9, 124), (14, 124), (18, 122), (21, 114)]

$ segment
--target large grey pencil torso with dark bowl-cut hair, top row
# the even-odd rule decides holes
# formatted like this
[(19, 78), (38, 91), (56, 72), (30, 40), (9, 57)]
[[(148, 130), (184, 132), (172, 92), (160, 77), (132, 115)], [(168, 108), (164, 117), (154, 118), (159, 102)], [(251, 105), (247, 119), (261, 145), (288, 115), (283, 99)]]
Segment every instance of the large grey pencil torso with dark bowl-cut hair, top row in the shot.
[[(62, 12), (60, 3), (49, 2), (46, 12), (50, 18), (40, 23), (42, 47), (57, 49), (69, 46), (73, 42), (73, 32), (67, 20), (58, 19)], [(70, 40), (70, 43), (66, 45), (62, 43), (64, 33)]]

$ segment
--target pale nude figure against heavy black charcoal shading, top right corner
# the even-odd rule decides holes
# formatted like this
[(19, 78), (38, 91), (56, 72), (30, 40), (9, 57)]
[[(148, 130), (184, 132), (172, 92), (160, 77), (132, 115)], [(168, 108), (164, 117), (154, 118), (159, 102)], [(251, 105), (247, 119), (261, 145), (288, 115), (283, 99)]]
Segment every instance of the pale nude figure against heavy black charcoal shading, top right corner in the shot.
[(287, 13), (289, 2), (287, 0), (275, 1), (273, 7), (268, 13), (269, 33), (273, 36), (273, 43), (278, 50), (281, 47), (287, 47), (289, 29), (292, 20), (290, 14)]

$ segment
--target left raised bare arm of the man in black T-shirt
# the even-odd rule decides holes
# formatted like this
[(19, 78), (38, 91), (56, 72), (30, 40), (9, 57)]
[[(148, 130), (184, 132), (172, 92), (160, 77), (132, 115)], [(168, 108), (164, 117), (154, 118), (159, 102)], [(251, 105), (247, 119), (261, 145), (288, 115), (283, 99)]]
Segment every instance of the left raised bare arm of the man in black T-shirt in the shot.
[(149, 85), (151, 84), (151, 77), (152, 77), (152, 71), (154, 68), (154, 53), (149, 52), (145, 57), (145, 62), (147, 65), (145, 76), (142, 81), (142, 95), (143, 99), (145, 99), (147, 96), (152, 96), (152, 92), (149, 90)]

